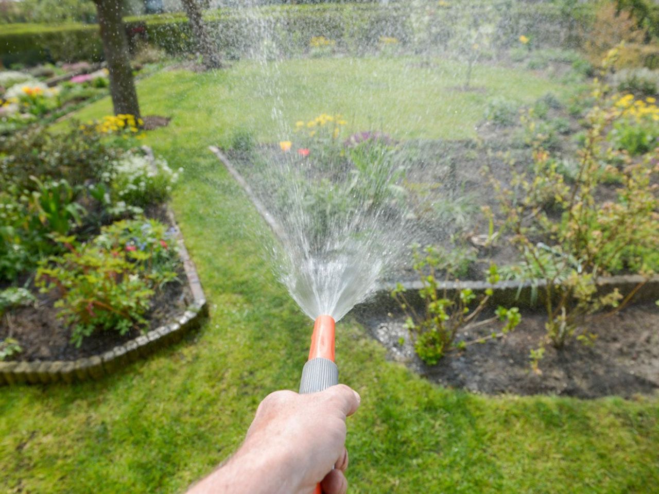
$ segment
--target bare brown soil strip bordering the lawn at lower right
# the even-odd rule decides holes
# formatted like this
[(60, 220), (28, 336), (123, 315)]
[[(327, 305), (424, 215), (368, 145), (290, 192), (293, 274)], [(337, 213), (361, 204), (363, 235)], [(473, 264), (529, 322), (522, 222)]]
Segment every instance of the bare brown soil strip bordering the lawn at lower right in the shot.
[[(374, 314), (372, 310), (370, 313)], [(547, 345), (540, 360), (540, 373), (532, 370), (529, 354), (540, 346), (545, 335), (543, 314), (524, 314), (519, 327), (503, 339), (453, 350), (436, 366), (427, 366), (414, 354), (401, 315), (381, 314), (382, 317), (368, 316), (362, 312), (357, 317), (387, 347), (392, 360), (447, 387), (487, 395), (579, 398), (629, 398), (659, 389), (659, 310), (652, 302), (631, 306), (599, 321), (598, 336), (590, 346), (574, 341), (556, 350)], [(460, 333), (459, 340), (469, 343), (492, 331), (498, 331), (498, 327), (483, 326), (467, 335)]]

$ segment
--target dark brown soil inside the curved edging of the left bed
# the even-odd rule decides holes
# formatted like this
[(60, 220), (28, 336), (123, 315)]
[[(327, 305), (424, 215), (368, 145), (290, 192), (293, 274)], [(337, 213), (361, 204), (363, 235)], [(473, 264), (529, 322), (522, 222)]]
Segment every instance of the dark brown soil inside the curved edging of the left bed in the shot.
[[(16, 308), (0, 319), (0, 340), (14, 338), (22, 348), (12, 360), (76, 360), (103, 353), (140, 335), (138, 329), (123, 336), (105, 331), (84, 339), (80, 348), (76, 348), (71, 343), (71, 329), (57, 318), (55, 300), (48, 294), (41, 294), (36, 306)], [(191, 303), (192, 294), (181, 269), (179, 282), (165, 285), (152, 299), (152, 308), (146, 314), (149, 325), (144, 331), (172, 322)]]

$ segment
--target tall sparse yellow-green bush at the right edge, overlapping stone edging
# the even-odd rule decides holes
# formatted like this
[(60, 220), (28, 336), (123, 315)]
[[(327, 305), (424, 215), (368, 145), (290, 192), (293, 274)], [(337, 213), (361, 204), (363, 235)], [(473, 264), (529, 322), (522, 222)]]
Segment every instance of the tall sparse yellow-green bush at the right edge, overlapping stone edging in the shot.
[[(523, 257), (518, 273), (546, 283), (547, 339), (557, 347), (573, 337), (590, 341), (594, 335), (584, 332), (585, 319), (604, 308), (619, 310), (629, 302), (629, 296), (622, 300), (617, 290), (598, 292), (598, 277), (631, 265), (625, 260), (629, 246), (635, 246), (638, 254), (656, 252), (659, 244), (659, 198), (654, 185), (659, 166), (651, 155), (632, 159), (610, 150), (605, 129), (623, 118), (627, 105), (619, 98), (608, 99), (598, 81), (593, 94), (599, 100), (587, 115), (587, 133), (572, 184), (565, 184), (559, 163), (542, 142), (534, 144), (531, 177), (513, 172), (514, 188), (494, 182), (506, 226)], [(602, 169), (602, 163), (608, 165)], [(598, 191), (605, 179), (616, 184), (615, 199), (600, 198)], [(548, 212), (548, 199), (559, 215)], [(536, 242), (537, 238), (544, 243)], [(635, 260), (635, 269), (647, 273), (653, 259), (656, 256)], [(534, 358), (540, 354), (534, 352)]]

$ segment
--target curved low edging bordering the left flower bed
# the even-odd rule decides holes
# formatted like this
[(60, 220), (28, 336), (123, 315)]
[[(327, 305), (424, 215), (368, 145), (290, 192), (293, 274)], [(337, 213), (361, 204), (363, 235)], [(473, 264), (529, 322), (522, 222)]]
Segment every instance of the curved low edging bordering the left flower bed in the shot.
[(171, 210), (167, 217), (176, 232), (179, 255), (183, 261), (188, 285), (194, 302), (172, 323), (158, 327), (135, 339), (119, 344), (100, 355), (78, 358), (78, 360), (49, 362), (0, 362), (0, 386), (15, 384), (72, 383), (86, 379), (101, 379), (104, 375), (124, 368), (129, 362), (144, 358), (158, 348), (179, 341), (183, 335), (200, 325), (200, 319), (208, 316), (208, 303), (197, 276), (194, 262), (190, 259), (183, 236)]

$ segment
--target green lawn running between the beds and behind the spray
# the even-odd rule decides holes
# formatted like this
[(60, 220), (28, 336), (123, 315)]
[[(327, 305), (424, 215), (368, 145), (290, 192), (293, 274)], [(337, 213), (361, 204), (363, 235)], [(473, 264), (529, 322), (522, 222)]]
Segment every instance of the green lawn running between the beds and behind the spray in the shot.
[[(439, 70), (409, 68), (428, 76), (419, 81), (403, 72), (389, 80), (374, 72), (395, 69), (393, 61), (346, 62), (282, 65), (282, 77), (304, 76), (283, 100), (285, 117), (340, 111), (358, 116), (360, 128), (375, 121), (369, 112), (377, 102), (377, 118), (390, 132), (409, 126), (407, 135), (457, 138), (471, 134), (488, 97), (446, 90), (456, 82), (442, 84)], [(182, 491), (237, 447), (266, 394), (297, 388), (311, 321), (262, 260), (252, 235), (260, 218), (206, 149), (241, 126), (279, 138), (270, 130), (269, 103), (253, 97), (256, 70), (161, 72), (140, 82), (143, 113), (173, 117), (146, 142), (185, 168), (173, 208), (210, 319), (188, 341), (103, 381), (0, 389), (2, 492)], [(337, 73), (340, 84), (332, 82)], [(561, 91), (529, 74), (519, 74), (525, 82), (513, 88), (510, 72), (476, 72), (481, 81), (488, 74), (490, 94), (520, 101)], [(333, 96), (323, 97), (325, 90)], [(426, 109), (418, 121), (415, 112)], [(466, 113), (457, 118), (451, 109)], [(82, 118), (108, 110), (103, 100)], [(659, 485), (657, 397), (472, 395), (387, 362), (350, 318), (337, 331), (341, 380), (362, 395), (349, 421), (353, 493), (650, 493)]]

